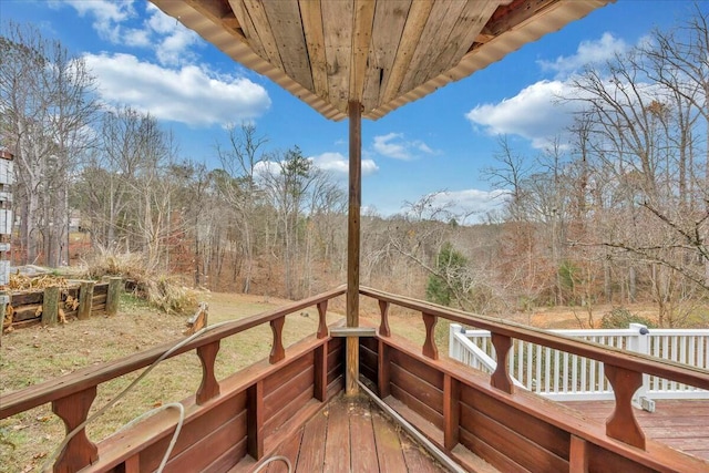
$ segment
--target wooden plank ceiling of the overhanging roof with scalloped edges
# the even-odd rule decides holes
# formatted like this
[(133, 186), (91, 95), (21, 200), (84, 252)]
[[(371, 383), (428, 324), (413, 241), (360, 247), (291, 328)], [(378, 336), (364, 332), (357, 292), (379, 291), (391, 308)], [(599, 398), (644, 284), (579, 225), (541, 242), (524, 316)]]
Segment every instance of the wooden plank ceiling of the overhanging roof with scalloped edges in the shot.
[(151, 0), (326, 117), (379, 119), (615, 0)]

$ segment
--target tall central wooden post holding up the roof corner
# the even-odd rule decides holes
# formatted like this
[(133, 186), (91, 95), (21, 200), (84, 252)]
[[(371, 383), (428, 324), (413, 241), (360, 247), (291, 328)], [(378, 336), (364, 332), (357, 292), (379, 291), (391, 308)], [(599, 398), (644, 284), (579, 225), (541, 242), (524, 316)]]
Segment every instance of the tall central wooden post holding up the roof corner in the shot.
[[(359, 326), (360, 207), (362, 205), (362, 104), (350, 101), (350, 174), (347, 225), (347, 327)], [(359, 338), (347, 338), (345, 392), (359, 392)]]

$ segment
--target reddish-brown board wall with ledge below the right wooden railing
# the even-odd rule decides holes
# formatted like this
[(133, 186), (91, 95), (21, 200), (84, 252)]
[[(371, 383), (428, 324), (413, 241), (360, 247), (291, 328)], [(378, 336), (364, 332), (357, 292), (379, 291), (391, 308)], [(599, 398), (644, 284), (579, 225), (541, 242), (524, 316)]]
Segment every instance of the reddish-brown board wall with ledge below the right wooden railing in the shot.
[[(377, 342), (377, 352), (391, 359), (391, 394), (384, 401), (459, 461), (462, 445), (501, 471), (709, 470), (708, 462), (659, 442), (648, 440), (645, 451), (629, 446), (597, 421), (553, 401), (493, 388), (490, 376), (432, 360), (395, 335)], [(369, 380), (381, 382), (381, 376)]]

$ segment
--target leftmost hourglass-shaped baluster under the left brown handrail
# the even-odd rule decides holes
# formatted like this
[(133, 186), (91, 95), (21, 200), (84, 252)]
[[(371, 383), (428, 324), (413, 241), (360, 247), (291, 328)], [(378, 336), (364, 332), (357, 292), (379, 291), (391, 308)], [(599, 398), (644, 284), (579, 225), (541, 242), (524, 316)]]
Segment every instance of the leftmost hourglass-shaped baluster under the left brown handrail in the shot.
[[(72, 432), (86, 420), (95, 397), (96, 387), (92, 385), (83, 391), (52, 401), (52, 412), (64, 421), (66, 433)], [(76, 472), (96, 460), (99, 460), (99, 449), (86, 436), (86, 430), (82, 429), (69, 441), (56, 459), (54, 472)]]

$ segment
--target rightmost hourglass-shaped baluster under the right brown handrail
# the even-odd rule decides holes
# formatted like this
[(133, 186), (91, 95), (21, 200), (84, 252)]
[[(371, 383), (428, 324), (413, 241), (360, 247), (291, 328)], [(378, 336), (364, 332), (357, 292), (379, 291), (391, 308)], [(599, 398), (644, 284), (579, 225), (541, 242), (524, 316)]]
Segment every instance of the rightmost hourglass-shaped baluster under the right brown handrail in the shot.
[(608, 363), (605, 373), (616, 398), (615, 410), (606, 421), (606, 434), (645, 450), (645, 434), (633, 413), (633, 394), (643, 385), (643, 373)]

